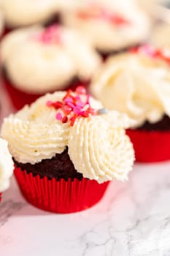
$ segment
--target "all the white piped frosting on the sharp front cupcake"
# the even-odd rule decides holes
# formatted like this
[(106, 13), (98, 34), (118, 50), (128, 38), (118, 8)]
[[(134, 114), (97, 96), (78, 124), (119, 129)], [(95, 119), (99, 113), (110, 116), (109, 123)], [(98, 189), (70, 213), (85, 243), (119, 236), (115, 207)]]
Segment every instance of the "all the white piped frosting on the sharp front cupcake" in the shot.
[[(116, 178), (124, 181), (134, 162), (134, 150), (124, 127), (131, 120), (111, 111), (88, 118), (78, 117), (73, 126), (56, 120), (58, 111), (46, 102), (61, 101), (65, 92), (47, 94), (4, 119), (1, 136), (8, 140), (9, 151), (18, 162), (35, 164), (61, 154), (66, 146), (74, 167), (85, 178), (98, 183)], [(81, 96), (82, 102), (86, 97)], [(91, 108), (102, 105), (90, 98)]]

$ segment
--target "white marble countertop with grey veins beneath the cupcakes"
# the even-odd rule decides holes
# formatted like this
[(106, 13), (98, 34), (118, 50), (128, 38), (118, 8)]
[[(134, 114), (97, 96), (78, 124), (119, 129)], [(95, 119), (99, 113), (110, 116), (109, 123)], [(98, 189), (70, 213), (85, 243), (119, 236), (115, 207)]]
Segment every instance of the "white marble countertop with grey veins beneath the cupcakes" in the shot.
[(0, 255), (169, 256), (169, 198), (170, 162), (135, 165), (127, 183), (113, 181), (100, 203), (77, 214), (34, 208), (12, 178), (0, 204)]

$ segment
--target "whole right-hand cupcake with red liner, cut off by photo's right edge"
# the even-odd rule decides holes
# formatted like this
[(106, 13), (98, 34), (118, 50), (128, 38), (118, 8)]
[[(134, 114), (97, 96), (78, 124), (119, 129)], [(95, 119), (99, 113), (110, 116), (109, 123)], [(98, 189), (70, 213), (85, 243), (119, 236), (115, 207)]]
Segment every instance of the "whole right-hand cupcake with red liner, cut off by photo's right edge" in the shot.
[(135, 123), (127, 134), (136, 160), (170, 159), (170, 51), (148, 45), (108, 59), (90, 90), (109, 110)]

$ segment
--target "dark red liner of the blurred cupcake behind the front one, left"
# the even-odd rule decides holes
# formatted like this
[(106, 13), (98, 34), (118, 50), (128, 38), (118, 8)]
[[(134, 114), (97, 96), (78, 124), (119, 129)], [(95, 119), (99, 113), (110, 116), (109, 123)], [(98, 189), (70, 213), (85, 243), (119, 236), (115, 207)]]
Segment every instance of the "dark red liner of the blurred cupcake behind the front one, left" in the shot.
[[(4, 85), (4, 88), (9, 94), (12, 105), (16, 110), (20, 110), (21, 108), (24, 107), (24, 105), (26, 104), (29, 105), (32, 102), (34, 102), (36, 99), (44, 95), (44, 94), (28, 94), (24, 91), (17, 89), (3, 74), (1, 75), (1, 79)], [(68, 84), (68, 86), (65, 89), (75, 89), (77, 86), (88, 87), (88, 85), (89, 85), (89, 82), (80, 82), (77, 80), (73, 83)], [(53, 91), (47, 91), (47, 92), (53, 92)]]

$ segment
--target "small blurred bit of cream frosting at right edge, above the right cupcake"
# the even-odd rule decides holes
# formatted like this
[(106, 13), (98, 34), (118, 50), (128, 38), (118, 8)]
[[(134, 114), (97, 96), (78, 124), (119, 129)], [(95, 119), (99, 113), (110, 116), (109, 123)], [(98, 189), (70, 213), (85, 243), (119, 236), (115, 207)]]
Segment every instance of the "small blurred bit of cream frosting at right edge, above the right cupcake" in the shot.
[(170, 24), (160, 24), (155, 27), (150, 41), (157, 47), (170, 48)]

